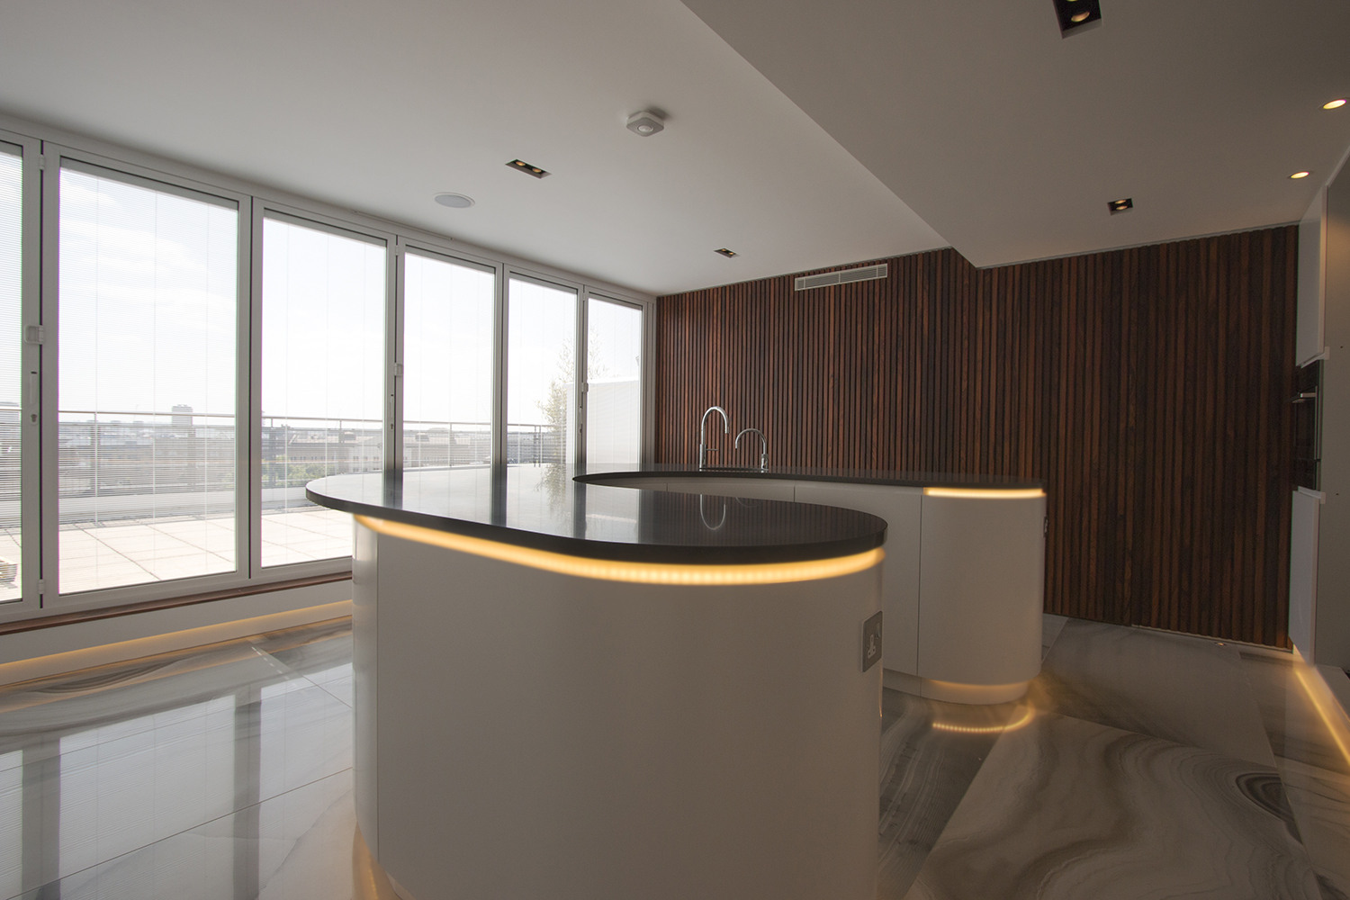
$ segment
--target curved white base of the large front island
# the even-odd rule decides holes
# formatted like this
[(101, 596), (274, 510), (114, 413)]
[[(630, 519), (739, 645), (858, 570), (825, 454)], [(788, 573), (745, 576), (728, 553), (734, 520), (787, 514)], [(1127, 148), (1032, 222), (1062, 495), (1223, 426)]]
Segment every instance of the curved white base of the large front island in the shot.
[(662, 584), (443, 538), (358, 517), (356, 815), (401, 896), (873, 900), (879, 549)]

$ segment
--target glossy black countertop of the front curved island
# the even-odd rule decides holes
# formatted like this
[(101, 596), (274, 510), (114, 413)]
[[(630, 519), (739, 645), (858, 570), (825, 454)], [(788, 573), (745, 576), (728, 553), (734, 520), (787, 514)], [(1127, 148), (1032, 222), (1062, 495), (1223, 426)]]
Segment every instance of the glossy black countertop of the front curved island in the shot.
[[(616, 471), (590, 467), (591, 475)], [(621, 561), (784, 563), (861, 553), (886, 540), (886, 521), (856, 510), (589, 484), (579, 475), (586, 471), (560, 464), (369, 472), (321, 478), (305, 495), (358, 515)]]

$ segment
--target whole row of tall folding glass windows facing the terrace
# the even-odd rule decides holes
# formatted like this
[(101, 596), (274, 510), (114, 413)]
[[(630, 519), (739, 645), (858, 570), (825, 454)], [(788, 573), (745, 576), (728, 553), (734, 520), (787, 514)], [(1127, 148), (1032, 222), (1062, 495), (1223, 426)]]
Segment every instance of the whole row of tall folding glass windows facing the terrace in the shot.
[(319, 478), (554, 490), (640, 457), (651, 301), (24, 128), (0, 130), (0, 621), (342, 578)]

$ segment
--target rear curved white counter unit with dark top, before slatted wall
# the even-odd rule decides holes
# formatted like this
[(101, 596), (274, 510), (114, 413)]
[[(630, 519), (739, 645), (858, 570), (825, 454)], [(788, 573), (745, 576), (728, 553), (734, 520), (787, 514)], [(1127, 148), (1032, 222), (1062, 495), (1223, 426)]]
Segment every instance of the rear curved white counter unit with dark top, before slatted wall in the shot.
[(653, 468), (583, 478), (647, 490), (819, 503), (886, 519), (886, 687), (956, 703), (1002, 703), (1025, 695), (1040, 673), (1045, 604), (1045, 491), (1040, 487), (942, 484), (952, 476), (898, 476), (888, 483), (875, 474), (849, 482), (837, 480), (846, 474), (830, 472)]

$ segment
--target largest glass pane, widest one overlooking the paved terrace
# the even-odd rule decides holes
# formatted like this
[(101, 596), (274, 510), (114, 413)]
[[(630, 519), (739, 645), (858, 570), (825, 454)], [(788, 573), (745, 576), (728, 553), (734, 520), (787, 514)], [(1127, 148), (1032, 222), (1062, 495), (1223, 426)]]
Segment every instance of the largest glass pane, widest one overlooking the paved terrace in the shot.
[(235, 568), (239, 213), (61, 171), (61, 592)]

